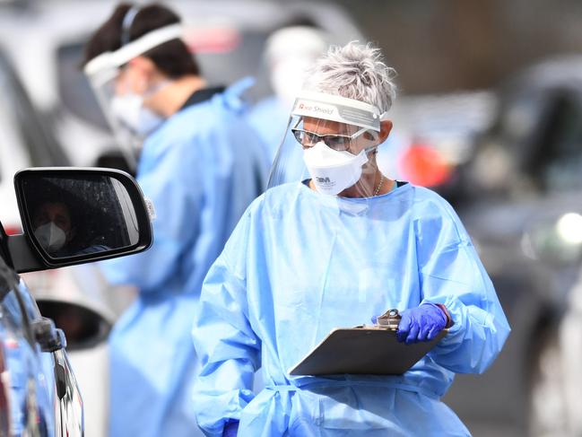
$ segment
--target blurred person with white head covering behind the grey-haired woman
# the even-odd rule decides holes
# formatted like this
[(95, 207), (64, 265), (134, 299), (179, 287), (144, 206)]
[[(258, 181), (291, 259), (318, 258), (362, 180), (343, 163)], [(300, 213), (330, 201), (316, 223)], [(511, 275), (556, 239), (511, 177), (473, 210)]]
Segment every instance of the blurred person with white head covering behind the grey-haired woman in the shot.
[[(265, 64), (274, 94), (258, 101), (248, 112), (248, 120), (263, 140), (269, 165), (282, 143), (289, 111), (305, 72), (326, 48), (326, 33), (307, 19), (274, 31), (265, 41)], [(285, 141), (295, 140), (290, 136)]]

